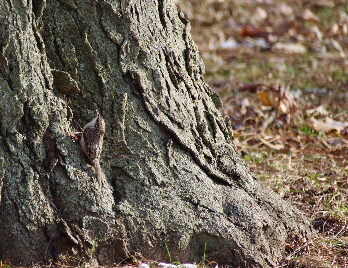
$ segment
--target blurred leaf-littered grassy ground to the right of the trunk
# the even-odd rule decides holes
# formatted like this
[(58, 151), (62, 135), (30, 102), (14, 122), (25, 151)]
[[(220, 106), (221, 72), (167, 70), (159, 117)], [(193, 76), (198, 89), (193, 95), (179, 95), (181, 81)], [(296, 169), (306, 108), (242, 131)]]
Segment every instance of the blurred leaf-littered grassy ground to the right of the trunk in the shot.
[(348, 266), (348, 3), (174, 0), (252, 172), (313, 219), (283, 266)]

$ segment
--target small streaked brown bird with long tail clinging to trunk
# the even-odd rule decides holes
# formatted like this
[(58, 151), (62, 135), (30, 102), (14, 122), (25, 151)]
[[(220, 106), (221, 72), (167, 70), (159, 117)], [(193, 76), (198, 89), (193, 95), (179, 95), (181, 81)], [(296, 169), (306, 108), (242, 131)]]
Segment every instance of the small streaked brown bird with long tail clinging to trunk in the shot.
[(80, 146), (82, 151), (88, 156), (90, 163), (94, 167), (100, 187), (104, 184), (102, 170), (99, 164), (100, 153), (103, 148), (103, 138), (105, 133), (105, 122), (97, 112), (97, 117), (87, 123), (82, 132)]

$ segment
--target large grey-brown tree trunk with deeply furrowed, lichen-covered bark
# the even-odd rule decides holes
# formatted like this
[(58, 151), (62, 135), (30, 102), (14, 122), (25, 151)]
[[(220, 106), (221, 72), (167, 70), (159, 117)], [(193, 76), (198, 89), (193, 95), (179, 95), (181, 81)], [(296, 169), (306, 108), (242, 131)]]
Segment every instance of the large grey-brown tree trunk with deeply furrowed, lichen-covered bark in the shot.
[[(27, 6), (28, 5), (28, 6)], [(0, 258), (276, 265), (313, 230), (236, 151), (166, 0), (0, 1)], [(74, 131), (106, 122), (100, 188)]]

